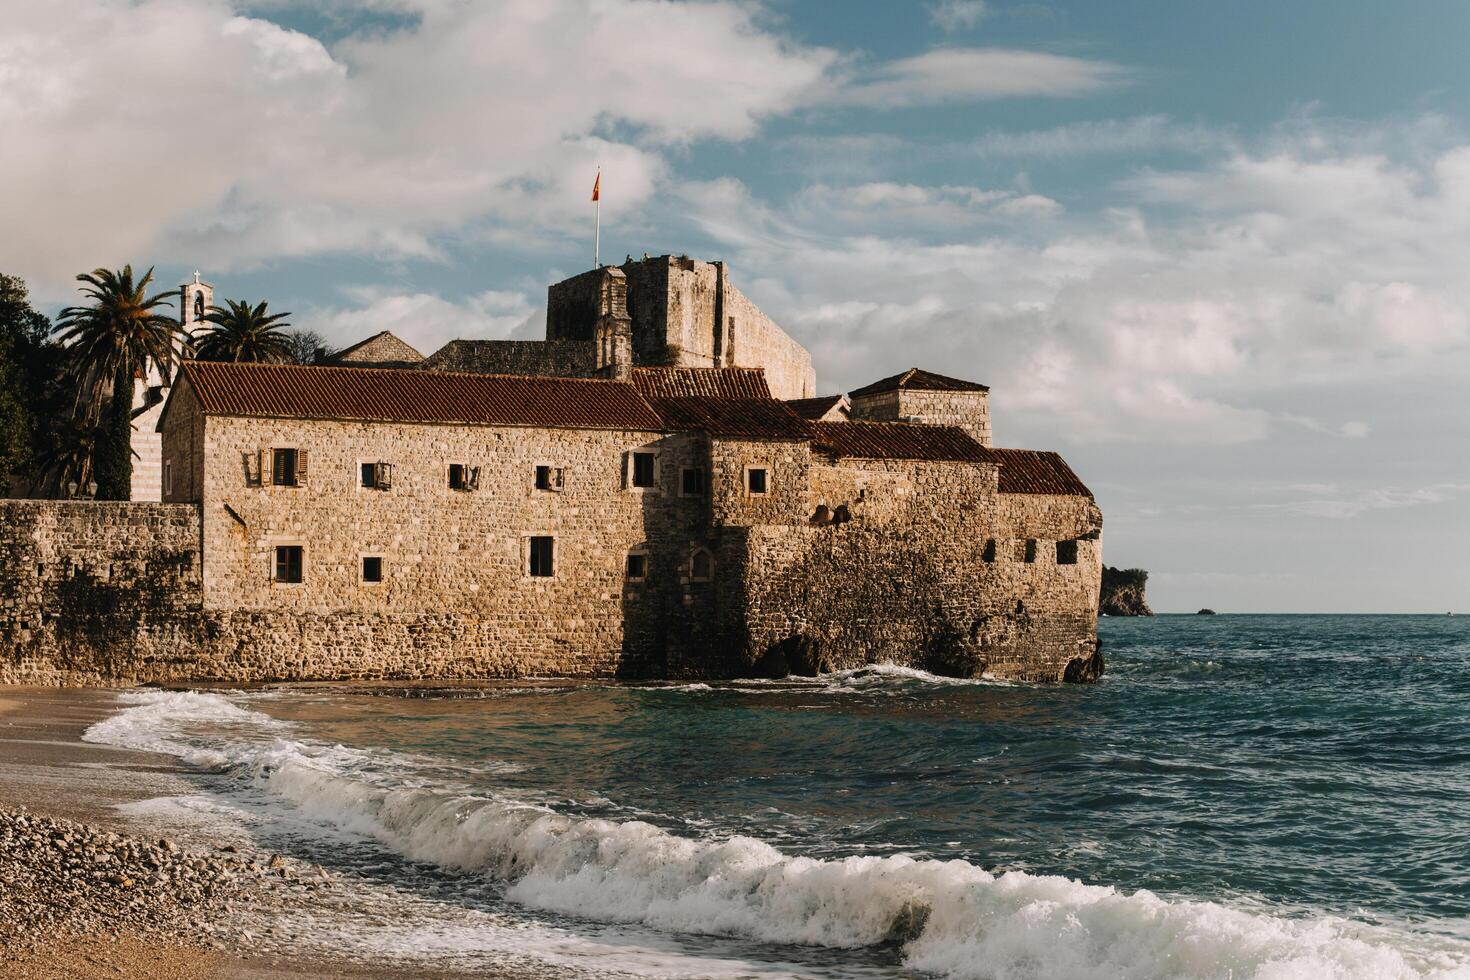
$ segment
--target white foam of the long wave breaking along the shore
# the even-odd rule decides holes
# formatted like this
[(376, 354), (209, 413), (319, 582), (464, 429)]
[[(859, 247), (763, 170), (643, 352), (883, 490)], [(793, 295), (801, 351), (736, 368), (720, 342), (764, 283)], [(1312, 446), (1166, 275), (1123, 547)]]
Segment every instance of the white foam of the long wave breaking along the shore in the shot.
[[(813, 860), (751, 837), (695, 840), (639, 821), (582, 820), (513, 799), (365, 777), (369, 757), (278, 738), (279, 723), (219, 695), (135, 695), (88, 738), (228, 758), (322, 824), (416, 861), (507, 883), (526, 907), (770, 943), (904, 942), (906, 962), (957, 979), (1470, 980), (1466, 948), (1327, 915), (1289, 918), (1214, 902), (964, 861)], [(268, 743), (184, 730), (257, 721)]]

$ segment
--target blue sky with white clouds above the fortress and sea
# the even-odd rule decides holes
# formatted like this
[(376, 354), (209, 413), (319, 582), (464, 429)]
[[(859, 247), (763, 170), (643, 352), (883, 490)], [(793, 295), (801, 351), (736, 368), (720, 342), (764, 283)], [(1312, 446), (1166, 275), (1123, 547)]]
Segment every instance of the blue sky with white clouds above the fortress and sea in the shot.
[(691, 254), (1057, 450), (1160, 611), (1470, 610), (1463, 0), (0, 0), (0, 272), (345, 345)]

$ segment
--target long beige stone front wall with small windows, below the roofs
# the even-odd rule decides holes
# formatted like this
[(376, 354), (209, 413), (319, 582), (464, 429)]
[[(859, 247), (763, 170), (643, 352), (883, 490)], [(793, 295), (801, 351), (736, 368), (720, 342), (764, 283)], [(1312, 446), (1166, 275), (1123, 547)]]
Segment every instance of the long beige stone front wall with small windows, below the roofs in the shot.
[[(803, 442), (697, 433), (204, 419), (187, 386), (168, 422), (172, 502), (0, 502), (0, 683), (1100, 667), (1095, 504), (998, 494), (994, 464), (833, 464)], [(269, 469), (253, 482), (276, 447), (307, 453), (303, 486)], [(629, 486), (631, 451), (656, 454), (654, 486)], [(365, 461), (391, 464), (387, 489), (360, 485)], [(478, 489), (451, 489), (450, 463), (479, 467)], [(535, 488), (538, 464), (562, 469), (562, 489)], [(767, 494), (747, 492), (751, 466)], [(688, 467), (709, 492), (682, 492)], [(554, 538), (551, 577), (528, 574), (529, 535)], [(301, 583), (273, 580), (282, 544), (304, 550)], [(631, 552), (645, 574), (628, 574)], [(384, 582), (363, 580), (365, 555)]]

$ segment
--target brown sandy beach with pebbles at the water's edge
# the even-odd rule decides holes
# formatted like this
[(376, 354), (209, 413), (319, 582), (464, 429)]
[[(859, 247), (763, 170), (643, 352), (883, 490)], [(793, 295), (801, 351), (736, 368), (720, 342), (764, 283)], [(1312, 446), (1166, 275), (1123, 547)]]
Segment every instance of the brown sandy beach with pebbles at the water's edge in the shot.
[[(113, 835), (128, 842), (176, 842), (182, 857), (193, 862), (220, 858), (216, 842), (198, 836), (187, 826), (160, 827), (121, 811), (121, 804), (194, 792), (179, 764), (168, 755), (135, 752), (106, 745), (82, 742), (90, 724), (115, 710), (116, 692), (98, 689), (9, 688), (0, 693), (0, 811), (24, 808), (37, 823), (47, 818), (75, 821), (96, 830), (96, 839)], [(13, 814), (12, 814), (13, 815)], [(59, 833), (59, 832), (57, 832)], [(68, 829), (71, 836), (85, 830)], [(91, 835), (88, 835), (91, 839)], [(9, 871), (24, 871), (26, 860), (54, 861), (54, 857), (6, 852), (0, 845), (0, 862)], [(13, 851), (13, 848), (10, 848)], [(269, 857), (256, 864), (262, 873), (248, 870), (251, 857), (226, 855), (245, 871), (240, 889), (228, 905), (200, 907), (184, 915), (162, 914), (163, 921), (137, 929), (119, 921), (107, 908), (96, 908), (87, 899), (71, 901), (50, 896), (47, 914), (56, 915), (49, 927), (31, 933), (0, 932), (0, 977), (72, 979), (72, 977), (150, 977), (156, 980), (194, 977), (265, 977), (291, 980), (295, 977), (401, 977), (401, 967), (379, 970), (347, 959), (291, 956), (251, 949), (247, 939), (191, 927), (190, 921), (213, 926), (213, 920), (238, 918), (241, 914), (279, 911), (293, 902), (313, 901), (312, 884), (297, 884), (310, 876), (310, 868), (295, 867), (291, 879), (278, 879), (266, 867)], [(54, 868), (40, 868), (54, 871)], [(12, 876), (13, 877), (13, 876)], [(269, 884), (263, 884), (266, 879)], [(278, 887), (276, 882), (285, 882)], [(131, 883), (129, 883), (131, 884)], [(122, 887), (121, 884), (118, 887)], [(138, 889), (144, 892), (144, 889)], [(148, 901), (147, 898), (144, 901)], [(25, 889), (0, 883), (0, 921), (25, 923), (38, 912), (41, 899)], [(159, 901), (159, 905), (165, 902)], [(410, 970), (415, 977), (448, 977), (434, 970)], [(481, 974), (484, 976), (484, 974)]]

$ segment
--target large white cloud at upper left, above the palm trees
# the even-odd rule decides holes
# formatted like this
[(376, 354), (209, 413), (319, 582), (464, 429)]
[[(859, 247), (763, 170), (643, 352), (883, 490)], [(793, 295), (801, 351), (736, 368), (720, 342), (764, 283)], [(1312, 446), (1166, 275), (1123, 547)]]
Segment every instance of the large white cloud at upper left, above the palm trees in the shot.
[[(126, 260), (240, 267), (434, 257), (637, 213), (664, 147), (739, 140), (828, 84), (832, 51), (742, 3), (404, 3), (325, 47), (225, 0), (10, 4), (0, 37), (0, 266), (56, 294)], [(620, 137), (610, 134), (619, 132)]]

